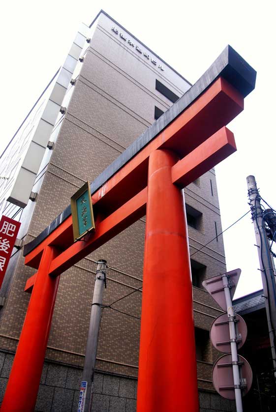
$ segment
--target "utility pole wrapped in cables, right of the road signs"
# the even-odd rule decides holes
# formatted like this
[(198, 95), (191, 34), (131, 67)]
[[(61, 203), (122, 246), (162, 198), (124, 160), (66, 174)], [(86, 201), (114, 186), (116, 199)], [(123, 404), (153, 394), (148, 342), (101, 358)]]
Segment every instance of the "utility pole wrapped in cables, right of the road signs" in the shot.
[(265, 213), (261, 208), (260, 195), (257, 189), (256, 180), (254, 176), (248, 176), (246, 180), (249, 205), (251, 208), (251, 217), (255, 229), (256, 246), (258, 248), (260, 269), (262, 273), (268, 330), (273, 360), (273, 372), (276, 379), (276, 273), (274, 270), (274, 262), (272, 260), (269, 242), (264, 227)]

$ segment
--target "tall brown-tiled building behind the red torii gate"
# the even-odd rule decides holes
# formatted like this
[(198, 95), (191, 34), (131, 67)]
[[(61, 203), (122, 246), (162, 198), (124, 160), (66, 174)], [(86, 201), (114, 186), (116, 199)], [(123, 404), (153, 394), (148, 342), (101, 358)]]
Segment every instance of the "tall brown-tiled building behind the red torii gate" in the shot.
[[(85, 181), (93, 181), (190, 86), (101, 11), (89, 28), (82, 26), (61, 70), (2, 154), (0, 175), (9, 179), (0, 180), (0, 212), (22, 222), (23, 242), (14, 250), (0, 291), (1, 396), (30, 298), (25, 284), (34, 273), (24, 265), (22, 243), (38, 236)], [(203, 279), (226, 271), (215, 170), (184, 193), (201, 411), (230, 412), (233, 403), (220, 398), (212, 385), (219, 353), (209, 329), (222, 311), (201, 286)], [(62, 274), (36, 411), (77, 409), (100, 258), (108, 263), (104, 304), (134, 293), (114, 305), (124, 313), (103, 309), (93, 407), (135, 411), (144, 230), (142, 218)]]

